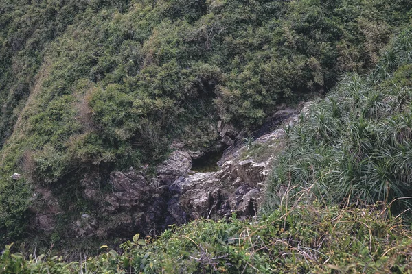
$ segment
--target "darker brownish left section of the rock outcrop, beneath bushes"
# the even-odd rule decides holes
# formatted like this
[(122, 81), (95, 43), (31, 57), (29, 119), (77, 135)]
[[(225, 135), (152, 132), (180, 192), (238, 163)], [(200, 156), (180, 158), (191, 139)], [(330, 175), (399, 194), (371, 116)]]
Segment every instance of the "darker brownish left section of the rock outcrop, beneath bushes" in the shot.
[[(106, 206), (102, 214), (119, 216), (123, 220), (117, 225), (116, 218), (111, 225), (102, 224), (100, 234), (111, 234), (124, 230), (150, 234), (152, 229), (165, 229), (173, 223), (185, 223), (185, 212), (175, 204), (176, 200), (168, 190), (179, 176), (190, 171), (192, 158), (185, 151), (174, 151), (157, 169), (157, 177), (148, 178), (142, 172), (129, 169), (127, 173), (111, 173), (112, 192), (106, 193)], [(125, 232), (126, 233), (126, 232)]]

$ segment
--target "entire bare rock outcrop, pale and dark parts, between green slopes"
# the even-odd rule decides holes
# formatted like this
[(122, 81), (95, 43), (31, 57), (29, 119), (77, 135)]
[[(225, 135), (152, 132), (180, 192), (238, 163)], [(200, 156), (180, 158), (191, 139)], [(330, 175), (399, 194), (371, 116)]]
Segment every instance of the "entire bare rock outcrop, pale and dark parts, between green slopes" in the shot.
[[(271, 127), (279, 121), (293, 125), (298, 120), (296, 113), (292, 109), (282, 110), (272, 117)], [(244, 145), (242, 141), (234, 141), (240, 138), (233, 126), (222, 125), (220, 121), (218, 129), (222, 142), (229, 148), (218, 162), (220, 168), (216, 172), (190, 171), (192, 159), (198, 155), (183, 151), (184, 143), (175, 143), (173, 148), (177, 150), (157, 168), (155, 177), (133, 168), (114, 171), (107, 183), (110, 191), (102, 191), (93, 180), (84, 179), (84, 199), (98, 206), (95, 212), (80, 213), (74, 219), (70, 226), (73, 234), (80, 238), (128, 237), (136, 232), (152, 234), (168, 225), (181, 225), (201, 217), (219, 219), (233, 212), (241, 218), (254, 216), (273, 161), (271, 151), (282, 147), (284, 130), (260, 134), (253, 143)], [(254, 151), (259, 148), (269, 153)], [(36, 210), (33, 226), (52, 232), (56, 214), (61, 211), (58, 201), (49, 190), (39, 188), (36, 193), (44, 204), (38, 207), (42, 210)]]

